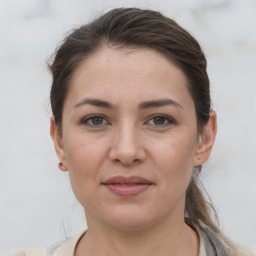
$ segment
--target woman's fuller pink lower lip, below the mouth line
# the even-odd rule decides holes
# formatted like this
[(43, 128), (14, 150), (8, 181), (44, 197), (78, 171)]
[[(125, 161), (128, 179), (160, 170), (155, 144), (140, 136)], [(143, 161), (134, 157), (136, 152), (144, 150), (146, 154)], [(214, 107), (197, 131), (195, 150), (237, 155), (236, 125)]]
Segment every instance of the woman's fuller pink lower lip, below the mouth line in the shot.
[(135, 196), (147, 190), (149, 187), (152, 186), (152, 184), (132, 184), (132, 185), (105, 184), (105, 186), (111, 192), (119, 196)]

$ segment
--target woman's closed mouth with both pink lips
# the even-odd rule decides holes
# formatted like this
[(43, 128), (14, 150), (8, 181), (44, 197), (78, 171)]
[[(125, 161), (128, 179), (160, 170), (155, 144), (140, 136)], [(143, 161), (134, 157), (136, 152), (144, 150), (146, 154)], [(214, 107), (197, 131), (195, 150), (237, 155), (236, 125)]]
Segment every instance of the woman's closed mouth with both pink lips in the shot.
[(102, 183), (109, 191), (119, 196), (135, 196), (154, 185), (153, 182), (139, 176), (115, 176)]

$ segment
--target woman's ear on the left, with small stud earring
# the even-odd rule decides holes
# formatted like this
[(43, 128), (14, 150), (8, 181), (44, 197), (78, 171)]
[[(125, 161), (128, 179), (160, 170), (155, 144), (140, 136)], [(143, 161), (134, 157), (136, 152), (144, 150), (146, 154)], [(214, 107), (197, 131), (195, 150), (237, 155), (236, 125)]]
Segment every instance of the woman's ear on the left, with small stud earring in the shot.
[(50, 134), (54, 143), (57, 157), (59, 158), (59, 168), (62, 171), (67, 171), (65, 150), (54, 117), (51, 117)]

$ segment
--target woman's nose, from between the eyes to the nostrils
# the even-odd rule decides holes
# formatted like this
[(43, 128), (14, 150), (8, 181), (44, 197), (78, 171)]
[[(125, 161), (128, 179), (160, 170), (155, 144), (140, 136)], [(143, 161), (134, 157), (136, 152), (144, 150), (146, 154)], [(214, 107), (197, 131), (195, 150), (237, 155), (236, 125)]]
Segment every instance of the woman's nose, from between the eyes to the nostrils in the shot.
[(116, 129), (109, 152), (109, 159), (124, 166), (131, 166), (145, 160), (146, 152), (140, 131), (132, 125)]

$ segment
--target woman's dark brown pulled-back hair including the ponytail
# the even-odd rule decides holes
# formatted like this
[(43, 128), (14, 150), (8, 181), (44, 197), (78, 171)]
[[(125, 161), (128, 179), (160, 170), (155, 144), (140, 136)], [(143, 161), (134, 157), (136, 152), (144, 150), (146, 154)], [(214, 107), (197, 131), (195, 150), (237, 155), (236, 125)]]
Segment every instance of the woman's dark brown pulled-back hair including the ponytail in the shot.
[[(207, 124), (211, 111), (207, 62), (199, 43), (172, 19), (153, 10), (118, 8), (72, 31), (56, 49), (49, 64), (52, 73), (50, 93), (52, 113), (61, 135), (62, 112), (70, 79), (82, 60), (102, 47), (149, 48), (178, 65), (187, 78), (193, 98), (198, 131)], [(198, 174), (192, 175), (186, 191), (185, 215), (189, 225), (204, 225), (216, 233), (216, 211), (199, 186)], [(217, 224), (216, 224), (217, 223)]]

